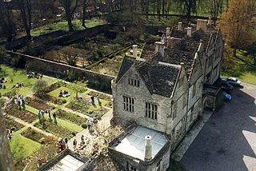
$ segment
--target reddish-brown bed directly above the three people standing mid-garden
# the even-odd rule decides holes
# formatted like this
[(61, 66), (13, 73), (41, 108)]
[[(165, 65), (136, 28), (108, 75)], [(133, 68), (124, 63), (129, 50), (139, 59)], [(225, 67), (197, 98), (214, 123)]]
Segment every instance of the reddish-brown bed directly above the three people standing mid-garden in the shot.
[(47, 104), (46, 101), (42, 101), (38, 97), (26, 97), (25, 102), (27, 105), (34, 107), (34, 109), (54, 109), (54, 106)]

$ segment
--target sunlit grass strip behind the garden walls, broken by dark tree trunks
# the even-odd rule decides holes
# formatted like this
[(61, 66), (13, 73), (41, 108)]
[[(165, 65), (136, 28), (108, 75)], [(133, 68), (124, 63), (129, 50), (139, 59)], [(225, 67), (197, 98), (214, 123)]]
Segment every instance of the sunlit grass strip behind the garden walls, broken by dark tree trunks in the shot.
[[(72, 23), (73, 23), (73, 26), (74, 26), (74, 30), (84, 30), (85, 29), (82, 26), (81, 21), (78, 20), (78, 19), (74, 19), (72, 21)], [(94, 27), (94, 26), (102, 25), (104, 23), (105, 22), (100, 20), (100, 19), (93, 18), (91, 20), (86, 20), (86, 27), (91, 28), (91, 27)], [(65, 22), (54, 22), (54, 23), (52, 23), (50, 25), (47, 25), (47, 26), (38, 27), (34, 30), (31, 30), (31, 35), (32, 36), (38, 36), (38, 35), (41, 35), (41, 34), (47, 34), (47, 33), (50, 33), (50, 32), (57, 31), (57, 30), (68, 31), (69, 28), (68, 28), (67, 22), (66, 21)]]

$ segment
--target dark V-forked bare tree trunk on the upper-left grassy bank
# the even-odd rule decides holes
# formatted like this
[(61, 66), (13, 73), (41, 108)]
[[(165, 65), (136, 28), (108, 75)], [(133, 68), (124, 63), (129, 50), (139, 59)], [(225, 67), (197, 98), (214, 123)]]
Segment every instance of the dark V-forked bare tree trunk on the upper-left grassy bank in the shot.
[(74, 31), (72, 19), (73, 14), (78, 7), (78, 0), (60, 0), (60, 2), (66, 13), (66, 21), (69, 26), (69, 30), (72, 32)]

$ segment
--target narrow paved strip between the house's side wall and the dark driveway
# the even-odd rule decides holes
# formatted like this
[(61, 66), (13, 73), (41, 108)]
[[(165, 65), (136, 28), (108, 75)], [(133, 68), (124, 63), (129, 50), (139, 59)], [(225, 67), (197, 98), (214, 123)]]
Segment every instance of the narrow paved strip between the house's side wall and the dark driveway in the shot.
[(210, 116), (212, 115), (212, 111), (205, 111), (202, 114), (202, 119), (199, 120), (193, 128), (186, 133), (186, 137), (182, 141), (175, 152), (171, 155), (171, 158), (174, 161), (181, 161), (183, 155), (186, 153), (186, 150), (190, 148), (190, 145), (193, 143), (194, 139), (198, 136), (198, 133), (201, 131), (203, 125), (206, 124), (206, 121), (209, 120)]

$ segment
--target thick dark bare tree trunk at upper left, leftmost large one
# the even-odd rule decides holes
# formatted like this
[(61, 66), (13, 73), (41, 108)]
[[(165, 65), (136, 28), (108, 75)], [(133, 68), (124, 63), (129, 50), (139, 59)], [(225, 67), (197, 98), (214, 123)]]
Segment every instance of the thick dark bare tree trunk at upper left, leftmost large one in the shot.
[(31, 1), (30, 0), (17, 0), (18, 9), (22, 18), (23, 26), (26, 30), (26, 37), (31, 39)]

